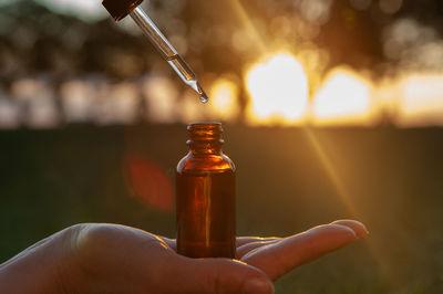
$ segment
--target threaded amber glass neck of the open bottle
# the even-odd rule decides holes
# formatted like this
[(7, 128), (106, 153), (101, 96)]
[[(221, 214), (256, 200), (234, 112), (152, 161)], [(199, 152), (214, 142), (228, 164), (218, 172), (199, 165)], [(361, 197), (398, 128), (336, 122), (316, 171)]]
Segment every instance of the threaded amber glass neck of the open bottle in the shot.
[(187, 127), (189, 139), (187, 145), (192, 154), (196, 156), (217, 155), (222, 153), (223, 128), (219, 123), (198, 123)]

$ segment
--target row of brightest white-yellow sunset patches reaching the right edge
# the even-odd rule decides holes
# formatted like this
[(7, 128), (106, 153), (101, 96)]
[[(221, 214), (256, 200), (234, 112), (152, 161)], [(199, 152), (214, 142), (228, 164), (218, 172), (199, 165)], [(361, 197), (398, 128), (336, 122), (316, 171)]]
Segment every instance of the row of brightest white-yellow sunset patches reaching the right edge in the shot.
[[(277, 53), (246, 74), (250, 125), (373, 126), (390, 115), (399, 126), (443, 125), (443, 74), (403, 74), (375, 83), (336, 67), (309, 97), (308, 74), (289, 53)], [(379, 119), (379, 120), (378, 120)]]

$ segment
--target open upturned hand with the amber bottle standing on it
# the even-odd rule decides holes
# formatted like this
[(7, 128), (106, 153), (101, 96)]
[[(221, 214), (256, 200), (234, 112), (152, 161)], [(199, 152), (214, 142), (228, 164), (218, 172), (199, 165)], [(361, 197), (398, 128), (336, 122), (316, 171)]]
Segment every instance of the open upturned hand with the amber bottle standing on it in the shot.
[(0, 293), (274, 293), (271, 281), (367, 234), (343, 220), (288, 238), (238, 238), (237, 258), (178, 255), (175, 240), (78, 224), (0, 266)]

